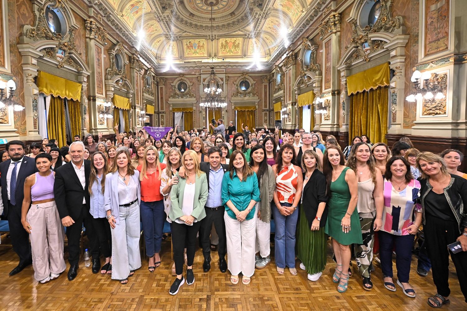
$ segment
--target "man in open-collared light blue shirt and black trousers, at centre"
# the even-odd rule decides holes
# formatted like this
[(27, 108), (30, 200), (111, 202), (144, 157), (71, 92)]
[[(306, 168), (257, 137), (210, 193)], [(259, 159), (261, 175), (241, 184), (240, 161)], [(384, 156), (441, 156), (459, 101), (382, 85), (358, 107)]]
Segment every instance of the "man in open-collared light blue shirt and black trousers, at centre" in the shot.
[(221, 164), (222, 151), (217, 147), (212, 147), (207, 153), (209, 162), (201, 162), (200, 168), (206, 173), (208, 184), (208, 195), (205, 205), (206, 217), (201, 220), (199, 234), (201, 235), (201, 245), (203, 246), (203, 271), (208, 272), (211, 269), (211, 233), (212, 224), (216, 233), (219, 235), (219, 269), (226, 272), (226, 225), (224, 223), (224, 212), (226, 208), (222, 205), (222, 179), (228, 169), (228, 165)]

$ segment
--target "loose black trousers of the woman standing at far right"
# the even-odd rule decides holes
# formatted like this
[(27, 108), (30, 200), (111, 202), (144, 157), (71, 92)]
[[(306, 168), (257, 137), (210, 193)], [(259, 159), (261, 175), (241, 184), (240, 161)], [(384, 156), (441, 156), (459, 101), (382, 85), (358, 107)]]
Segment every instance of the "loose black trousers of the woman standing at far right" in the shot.
[(448, 297), (449, 289), (449, 254), (456, 267), (460, 290), (467, 302), (467, 252), (451, 253), (447, 245), (454, 243), (460, 236), (456, 221), (445, 221), (426, 215), (423, 226), (427, 243), (428, 256), (432, 262), (433, 282), (438, 294)]

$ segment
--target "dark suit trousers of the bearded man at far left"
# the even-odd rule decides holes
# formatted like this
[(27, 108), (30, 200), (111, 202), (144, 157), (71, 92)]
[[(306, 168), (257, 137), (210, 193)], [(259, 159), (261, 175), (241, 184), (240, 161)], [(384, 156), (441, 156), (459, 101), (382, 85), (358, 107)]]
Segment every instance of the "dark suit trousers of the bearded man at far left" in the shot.
[(21, 206), (12, 205), (8, 201), (8, 226), (10, 227), (11, 244), (14, 252), (20, 257), (20, 264), (32, 262), (29, 233), (21, 224)]

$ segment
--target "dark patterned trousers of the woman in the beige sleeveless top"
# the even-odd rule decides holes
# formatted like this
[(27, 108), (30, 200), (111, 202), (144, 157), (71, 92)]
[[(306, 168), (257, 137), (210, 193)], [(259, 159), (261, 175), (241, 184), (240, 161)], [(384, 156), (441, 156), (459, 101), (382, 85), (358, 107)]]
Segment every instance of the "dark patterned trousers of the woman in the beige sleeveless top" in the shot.
[(373, 243), (375, 242), (373, 222), (375, 221), (375, 214), (376, 212), (358, 213), (363, 244), (354, 244), (354, 253), (358, 272), (363, 277), (370, 276), (369, 266), (373, 261)]

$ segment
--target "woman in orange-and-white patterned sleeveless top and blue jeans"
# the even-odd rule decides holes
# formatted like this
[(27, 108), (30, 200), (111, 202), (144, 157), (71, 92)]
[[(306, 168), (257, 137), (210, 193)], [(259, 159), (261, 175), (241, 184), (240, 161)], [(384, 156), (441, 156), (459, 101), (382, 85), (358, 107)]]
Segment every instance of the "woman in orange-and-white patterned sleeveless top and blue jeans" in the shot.
[(295, 269), (295, 232), (297, 229), (298, 211), (303, 190), (302, 169), (295, 165), (296, 155), (290, 144), (282, 145), (277, 153), (277, 164), (272, 167), (276, 175), (276, 190), (272, 213), (276, 223), (275, 257), (276, 269), (281, 275), (284, 268), (289, 267), (292, 276), (297, 275)]

